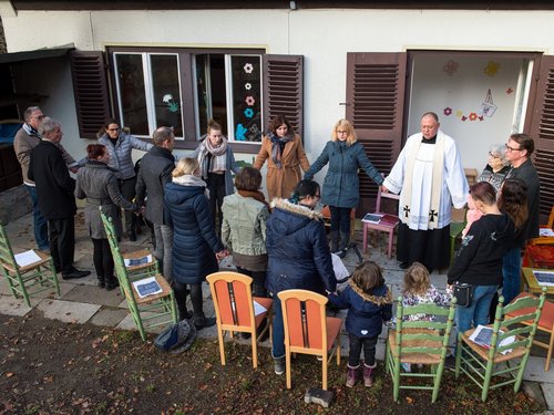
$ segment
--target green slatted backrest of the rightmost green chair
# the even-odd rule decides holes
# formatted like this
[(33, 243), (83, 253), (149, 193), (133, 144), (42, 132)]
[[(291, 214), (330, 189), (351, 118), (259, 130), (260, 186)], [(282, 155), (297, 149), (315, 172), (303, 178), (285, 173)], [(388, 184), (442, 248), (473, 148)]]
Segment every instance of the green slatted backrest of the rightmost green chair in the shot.
[[(535, 336), (536, 325), (541, 319), (541, 312), (544, 307), (546, 288), (543, 289), (541, 297), (521, 297), (513, 302), (504, 305), (504, 298), (499, 298), (499, 305), (494, 315), (494, 325), (489, 349), (489, 357), (492, 359), (495, 353), (502, 353), (510, 349), (526, 347), (531, 350), (533, 338)], [(523, 313), (522, 313), (523, 312)], [(516, 317), (506, 314), (516, 313)], [(520, 324), (524, 321), (532, 321), (532, 325)], [(503, 340), (516, 336), (515, 341), (500, 346)]]

